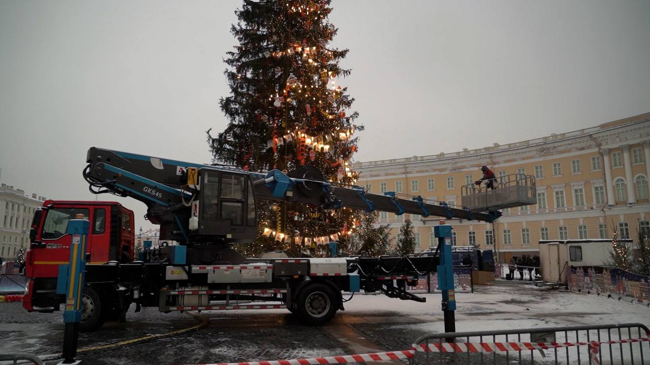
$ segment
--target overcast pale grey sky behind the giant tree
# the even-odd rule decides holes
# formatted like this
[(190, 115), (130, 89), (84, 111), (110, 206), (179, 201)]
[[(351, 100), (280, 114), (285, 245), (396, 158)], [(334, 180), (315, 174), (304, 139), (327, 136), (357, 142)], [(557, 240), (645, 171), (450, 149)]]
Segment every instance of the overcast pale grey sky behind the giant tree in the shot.
[[(210, 162), (241, 1), (0, 0), (2, 183), (94, 199), (86, 150)], [(432, 155), (650, 111), (650, 1), (332, 2), (356, 160)], [(100, 199), (114, 199), (103, 195)], [(120, 199), (135, 210), (144, 205)]]

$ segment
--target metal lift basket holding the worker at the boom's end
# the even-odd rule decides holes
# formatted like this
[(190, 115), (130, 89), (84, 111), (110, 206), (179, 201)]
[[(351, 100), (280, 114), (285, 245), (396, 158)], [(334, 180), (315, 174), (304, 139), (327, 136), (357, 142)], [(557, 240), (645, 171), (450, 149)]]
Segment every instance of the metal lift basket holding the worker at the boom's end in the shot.
[(464, 208), (475, 211), (492, 211), (523, 207), (537, 203), (535, 177), (513, 173), (495, 178), (494, 190), (483, 184), (469, 184), (461, 188), (461, 202)]

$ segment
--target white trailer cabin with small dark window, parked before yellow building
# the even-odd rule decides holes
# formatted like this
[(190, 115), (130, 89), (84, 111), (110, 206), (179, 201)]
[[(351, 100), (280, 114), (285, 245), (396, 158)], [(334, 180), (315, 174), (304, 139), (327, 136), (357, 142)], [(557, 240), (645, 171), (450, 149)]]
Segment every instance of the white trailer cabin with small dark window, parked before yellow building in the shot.
[[(632, 248), (632, 240), (621, 240)], [(567, 283), (567, 266), (605, 266), (612, 240), (540, 240), (541, 279), (547, 283)]]

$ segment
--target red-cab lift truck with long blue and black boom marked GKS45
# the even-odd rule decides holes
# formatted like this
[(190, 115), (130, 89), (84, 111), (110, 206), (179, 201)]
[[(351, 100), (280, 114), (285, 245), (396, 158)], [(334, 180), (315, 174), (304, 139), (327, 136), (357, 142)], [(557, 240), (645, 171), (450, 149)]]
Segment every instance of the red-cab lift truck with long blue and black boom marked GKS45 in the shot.
[(255, 173), (91, 147), (83, 176), (95, 194), (133, 197), (147, 206), (146, 218), (160, 225), (161, 240), (176, 245), (147, 247), (134, 257), (133, 212), (110, 201), (46, 201), (36, 210), (27, 252), (23, 306), (59, 310), (59, 264), (70, 237), (68, 220), (91, 222), (86, 253), (82, 331), (120, 320), (131, 304), (161, 312), (287, 308), (304, 323), (320, 325), (343, 310), (342, 292), (382, 292), (424, 302), (407, 287), (436, 270), (428, 257), (246, 258), (232, 248), (257, 236), (256, 201), (287, 201), (330, 209), (350, 208), (491, 222), (498, 210), (452, 208), (369, 194), (359, 186), (326, 181), (304, 166), (289, 173)]

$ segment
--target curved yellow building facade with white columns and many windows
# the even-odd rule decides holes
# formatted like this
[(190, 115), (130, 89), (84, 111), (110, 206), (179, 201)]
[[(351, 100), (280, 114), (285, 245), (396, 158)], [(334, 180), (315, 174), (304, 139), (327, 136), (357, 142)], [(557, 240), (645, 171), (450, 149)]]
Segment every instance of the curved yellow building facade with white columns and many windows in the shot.
[[(426, 201), (461, 205), (461, 186), (482, 177), (536, 177), (538, 203), (503, 210), (494, 223), (450, 220), (457, 245), (495, 249), (500, 262), (538, 255), (539, 240), (611, 238), (618, 231), (636, 242), (650, 229), (650, 113), (579, 131), (455, 153), (356, 162), (357, 183), (375, 194), (394, 191)], [(396, 236), (405, 216), (380, 213)], [(434, 245), (439, 218), (410, 217), (417, 250)]]

